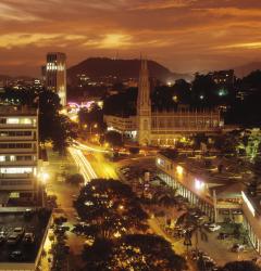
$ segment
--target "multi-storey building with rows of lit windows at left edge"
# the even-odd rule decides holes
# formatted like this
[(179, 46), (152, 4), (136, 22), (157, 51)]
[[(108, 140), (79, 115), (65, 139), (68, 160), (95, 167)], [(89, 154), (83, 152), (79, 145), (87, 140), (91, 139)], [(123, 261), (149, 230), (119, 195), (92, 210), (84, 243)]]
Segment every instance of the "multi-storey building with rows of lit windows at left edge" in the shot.
[(37, 193), (38, 112), (0, 106), (0, 204), (33, 202)]

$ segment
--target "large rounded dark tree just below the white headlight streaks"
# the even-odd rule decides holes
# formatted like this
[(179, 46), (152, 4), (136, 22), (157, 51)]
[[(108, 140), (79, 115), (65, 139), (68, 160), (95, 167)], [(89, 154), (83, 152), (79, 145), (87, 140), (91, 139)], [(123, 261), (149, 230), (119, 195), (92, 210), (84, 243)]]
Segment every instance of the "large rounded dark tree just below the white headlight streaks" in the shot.
[(80, 190), (75, 207), (87, 223), (85, 234), (92, 238), (115, 238), (148, 228), (148, 216), (130, 186), (116, 180), (91, 180)]

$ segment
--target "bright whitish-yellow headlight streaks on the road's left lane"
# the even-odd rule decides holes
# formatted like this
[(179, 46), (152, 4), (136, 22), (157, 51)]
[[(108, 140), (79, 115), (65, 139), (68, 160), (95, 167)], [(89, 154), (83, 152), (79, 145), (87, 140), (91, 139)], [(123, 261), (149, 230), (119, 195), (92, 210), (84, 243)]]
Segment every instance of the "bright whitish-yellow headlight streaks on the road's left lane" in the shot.
[(83, 152), (75, 147), (69, 147), (69, 152), (72, 155), (76, 166), (79, 169), (79, 172), (84, 176), (85, 184), (91, 179), (96, 179), (97, 175), (92, 169), (90, 163), (86, 159)]

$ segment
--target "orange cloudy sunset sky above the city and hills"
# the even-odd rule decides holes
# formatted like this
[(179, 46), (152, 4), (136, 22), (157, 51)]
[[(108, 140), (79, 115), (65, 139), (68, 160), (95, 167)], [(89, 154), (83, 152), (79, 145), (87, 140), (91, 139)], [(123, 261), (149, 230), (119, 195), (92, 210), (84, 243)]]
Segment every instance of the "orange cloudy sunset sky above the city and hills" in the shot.
[(234, 67), (261, 60), (260, 14), (261, 0), (1, 0), (0, 74), (39, 75), (48, 51)]

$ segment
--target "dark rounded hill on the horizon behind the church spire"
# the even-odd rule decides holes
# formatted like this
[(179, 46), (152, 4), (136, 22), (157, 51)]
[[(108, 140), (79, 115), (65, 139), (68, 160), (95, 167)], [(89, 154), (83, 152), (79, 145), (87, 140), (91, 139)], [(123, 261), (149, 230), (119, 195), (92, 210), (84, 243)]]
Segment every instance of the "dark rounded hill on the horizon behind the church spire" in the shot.
[[(154, 61), (148, 61), (149, 73), (162, 82), (178, 78), (188, 78), (188, 75), (172, 73), (166, 67)], [(67, 69), (67, 79), (74, 83), (78, 74), (85, 74), (90, 78), (116, 76), (121, 79), (138, 78), (140, 68), (139, 60), (112, 60), (102, 57), (90, 57)]]

